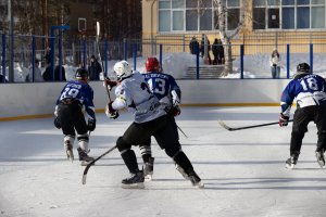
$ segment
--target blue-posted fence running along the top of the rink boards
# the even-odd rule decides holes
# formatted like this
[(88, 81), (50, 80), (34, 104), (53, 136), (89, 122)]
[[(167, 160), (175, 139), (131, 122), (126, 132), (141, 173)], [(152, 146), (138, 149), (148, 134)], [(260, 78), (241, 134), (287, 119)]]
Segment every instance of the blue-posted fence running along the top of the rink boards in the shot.
[[(4, 76), (0, 77), (0, 82), (4, 82), (4, 77), (8, 78), (9, 75), (8, 37), (9, 36), (7, 35), (1, 36), (0, 75)], [(49, 56), (47, 55), (47, 48), (49, 46), (47, 41), (49, 41), (49, 37), (14, 36), (14, 65), (20, 67), (21, 71), (25, 71), (21, 72), (21, 74), (15, 72), (14, 82), (37, 81), (35, 79), (36, 69), (40, 67), (41, 71), (43, 71), (49, 67)], [(190, 55), (189, 37), (185, 36), (171, 38), (156, 37), (154, 41), (151, 39), (123, 41), (101, 40), (99, 42), (100, 55), (98, 55), (95, 38), (61, 40), (55, 37), (54, 43), (54, 60), (57, 60), (55, 65), (87, 67), (91, 55), (96, 55), (97, 58), (101, 56), (103, 61), (103, 76), (106, 76), (108, 73), (110, 73), (109, 64), (112, 64), (111, 61), (128, 60), (134, 66), (134, 69), (136, 69), (138, 67), (136, 65), (137, 59), (146, 59), (147, 56), (156, 55), (162, 63), (164, 55), (168, 55), (170, 53)], [(325, 43), (277, 43), (277, 46), (275, 46), (274, 42), (268, 44), (266, 41), (264, 43), (234, 43), (231, 44), (230, 56), (233, 60), (234, 71), (230, 72), (231, 76), (226, 78), (272, 78), (268, 60), (272, 50), (275, 47), (277, 47), (281, 58), (280, 78), (290, 78), (296, 72), (296, 66), (299, 62), (310, 63), (314, 72), (324, 71), (322, 64), (315, 63), (323, 60), (324, 55), (326, 56), (326, 41)], [(212, 54), (212, 49), (209, 53), (213, 60), (214, 56)], [(202, 60), (199, 48), (196, 52), (196, 58), (192, 58), (191, 60), (192, 62), (189, 63), (189, 67), (192, 66), (193, 68), (193, 66), (196, 66), (197, 68), (197, 76), (195, 79), (201, 79), (201, 71), (203, 71), (203, 66), (208, 65), (208, 62)], [(211, 67), (214, 67), (214, 65)], [(221, 69), (221, 65), (218, 68)], [(26, 73), (26, 71), (28, 72)], [(187, 71), (187, 68), (185, 68), (185, 71)], [(29, 75), (29, 80), (26, 80), (26, 74)], [(60, 77), (60, 80), (62, 80), (62, 77)]]

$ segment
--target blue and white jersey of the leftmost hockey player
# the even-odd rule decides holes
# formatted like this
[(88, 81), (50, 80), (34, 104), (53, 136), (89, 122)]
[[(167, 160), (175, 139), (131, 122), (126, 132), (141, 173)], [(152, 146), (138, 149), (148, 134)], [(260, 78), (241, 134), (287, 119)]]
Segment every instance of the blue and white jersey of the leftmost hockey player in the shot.
[(87, 113), (88, 118), (96, 119), (93, 105), (93, 90), (92, 88), (79, 80), (68, 81), (61, 91), (57, 105), (64, 99), (75, 99), (80, 102)]

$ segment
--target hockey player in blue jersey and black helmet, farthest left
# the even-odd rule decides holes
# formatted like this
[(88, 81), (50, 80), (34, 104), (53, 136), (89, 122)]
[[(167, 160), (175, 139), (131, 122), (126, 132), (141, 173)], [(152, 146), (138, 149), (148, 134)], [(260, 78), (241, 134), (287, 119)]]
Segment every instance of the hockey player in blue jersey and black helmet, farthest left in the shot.
[[(88, 85), (88, 72), (84, 68), (76, 71), (76, 80), (68, 81), (57, 100), (54, 126), (64, 135), (64, 150), (70, 161), (74, 161), (73, 146), (77, 131), (78, 155), (82, 165), (87, 165), (93, 158), (88, 156), (88, 131), (96, 128), (93, 106), (93, 90)], [(88, 123), (85, 120), (86, 112)]]

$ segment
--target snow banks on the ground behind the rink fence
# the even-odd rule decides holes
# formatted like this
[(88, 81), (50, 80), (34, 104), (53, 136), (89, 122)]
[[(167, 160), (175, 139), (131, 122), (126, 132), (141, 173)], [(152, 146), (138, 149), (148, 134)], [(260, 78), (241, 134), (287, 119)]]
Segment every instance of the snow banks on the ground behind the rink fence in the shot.
[[(158, 59), (160, 56), (156, 56)], [(286, 53), (280, 53), (280, 78), (287, 78), (287, 64), (286, 64)], [(301, 62), (310, 63), (308, 53), (291, 53), (290, 55), (290, 76), (292, 76), (297, 71), (297, 65)], [(326, 66), (325, 60), (326, 54), (315, 53), (313, 68), (314, 73), (323, 77), (326, 77)], [(254, 55), (244, 55), (243, 56), (243, 77), (244, 78), (272, 78), (272, 73), (269, 68), (269, 54), (258, 53)], [(108, 61), (108, 76), (114, 78), (113, 66), (117, 60)], [(134, 59), (129, 59), (128, 62), (134, 67)], [(139, 72), (145, 72), (146, 58), (136, 59), (136, 68)], [(203, 64), (203, 60), (200, 59), (200, 65)], [(189, 53), (163, 53), (162, 66), (164, 73), (173, 75), (176, 79), (183, 78), (189, 66), (196, 66), (196, 55)], [(229, 74), (223, 78), (240, 78), (240, 60), (236, 59), (234, 61), (234, 74)], [(28, 75), (29, 69), (21, 66), (15, 63), (15, 81), (23, 82), (25, 77)], [(66, 78), (68, 80), (75, 79), (75, 72), (77, 67), (72, 65), (64, 65), (66, 72)], [(41, 68), (41, 72), (45, 72), (45, 68)], [(1, 72), (0, 72), (1, 74)], [(32, 75), (30, 75), (32, 77)], [(103, 79), (103, 75), (101, 76)]]

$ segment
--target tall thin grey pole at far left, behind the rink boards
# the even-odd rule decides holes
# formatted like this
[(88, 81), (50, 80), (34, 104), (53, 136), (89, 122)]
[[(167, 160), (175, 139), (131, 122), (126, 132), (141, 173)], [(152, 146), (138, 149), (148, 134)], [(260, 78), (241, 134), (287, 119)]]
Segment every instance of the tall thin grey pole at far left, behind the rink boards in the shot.
[(13, 14), (12, 14), (12, 0), (8, 0), (8, 23), (9, 23), (9, 82), (14, 81), (13, 68)]

